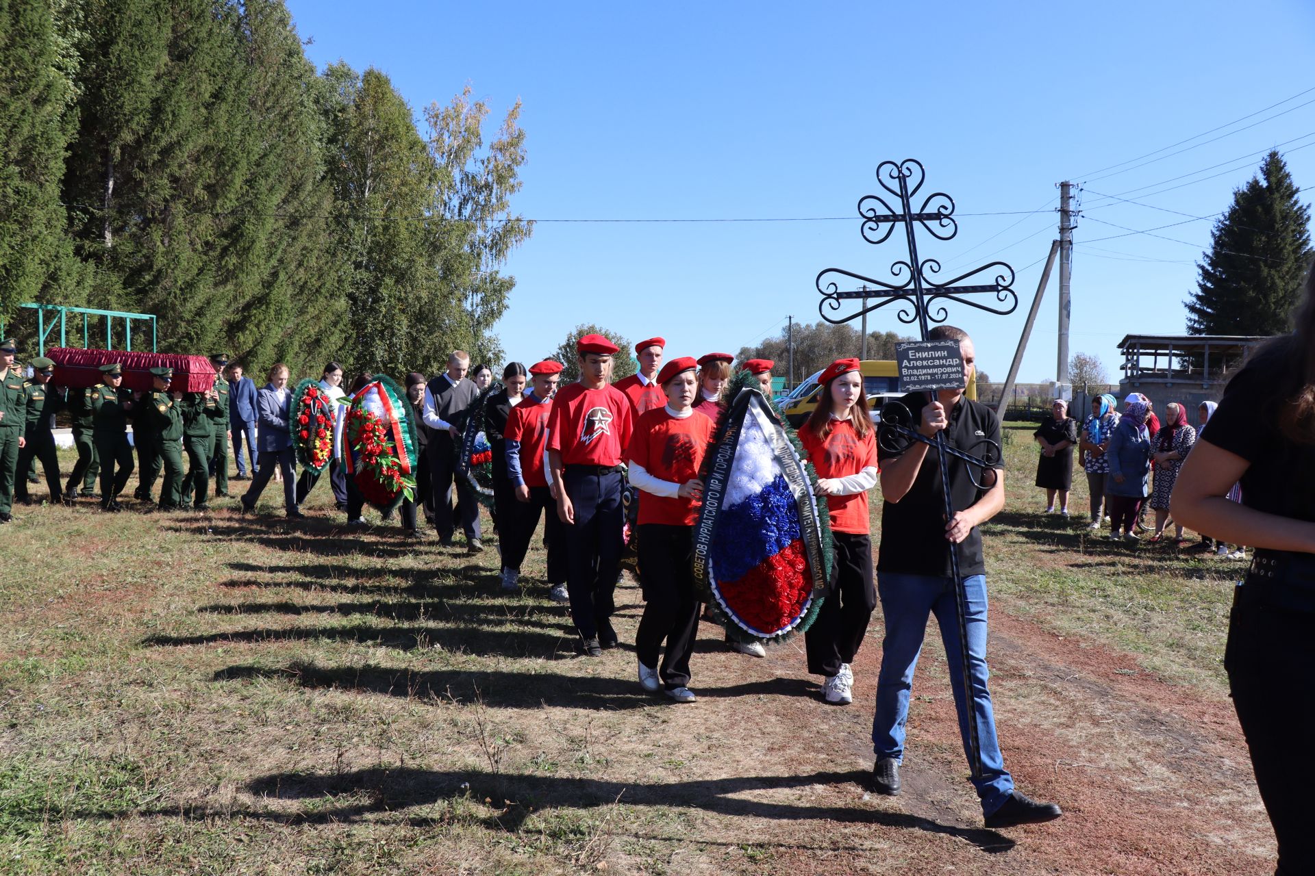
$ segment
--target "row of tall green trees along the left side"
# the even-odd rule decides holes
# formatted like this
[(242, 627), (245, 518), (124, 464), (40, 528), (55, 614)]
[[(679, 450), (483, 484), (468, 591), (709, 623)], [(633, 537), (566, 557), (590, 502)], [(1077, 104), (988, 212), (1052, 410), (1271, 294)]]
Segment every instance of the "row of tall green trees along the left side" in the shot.
[(417, 125), (383, 72), (317, 71), (281, 0), (3, 0), (0, 70), (0, 319), (24, 349), (17, 306), (46, 302), (295, 373), (501, 360), (501, 267), (533, 231), (519, 104), (487, 131), (467, 87)]

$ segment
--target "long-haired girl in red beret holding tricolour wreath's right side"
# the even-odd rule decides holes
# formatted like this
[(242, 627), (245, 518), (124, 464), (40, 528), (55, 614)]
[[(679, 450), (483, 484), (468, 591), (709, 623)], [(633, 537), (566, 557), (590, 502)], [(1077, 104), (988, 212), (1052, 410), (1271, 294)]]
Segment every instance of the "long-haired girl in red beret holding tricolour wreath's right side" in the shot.
[(821, 380), (822, 398), (800, 440), (818, 473), (818, 493), (826, 496), (835, 545), (830, 592), (813, 626), (803, 634), (809, 671), (826, 676), (827, 703), (853, 701), (853, 663), (868, 632), (877, 591), (872, 586), (872, 540), (868, 490), (877, 483), (877, 437), (868, 419), (868, 399), (857, 359), (838, 359)]

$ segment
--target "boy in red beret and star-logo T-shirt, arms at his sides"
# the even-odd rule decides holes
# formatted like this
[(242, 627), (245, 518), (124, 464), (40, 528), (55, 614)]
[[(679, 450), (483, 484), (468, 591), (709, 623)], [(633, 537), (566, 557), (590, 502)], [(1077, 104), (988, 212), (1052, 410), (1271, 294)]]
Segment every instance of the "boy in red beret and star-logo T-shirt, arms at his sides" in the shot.
[(571, 617), (589, 657), (617, 646), (613, 592), (621, 571), (626, 510), (621, 453), (630, 443), (634, 407), (608, 383), (618, 347), (602, 335), (576, 341), (580, 382), (558, 391), (548, 414), (548, 465), (565, 524)]

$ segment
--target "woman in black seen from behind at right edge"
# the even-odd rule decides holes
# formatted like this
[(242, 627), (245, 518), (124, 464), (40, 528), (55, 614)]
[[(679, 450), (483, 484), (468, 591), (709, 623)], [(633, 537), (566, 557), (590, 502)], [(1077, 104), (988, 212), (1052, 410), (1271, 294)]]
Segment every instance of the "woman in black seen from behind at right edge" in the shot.
[[(1241, 502), (1232, 502), (1239, 482)], [(1186, 527), (1256, 549), (1233, 588), (1224, 670), (1278, 838), (1276, 872), (1315, 872), (1315, 274), (1293, 331), (1228, 381), (1170, 510)]]

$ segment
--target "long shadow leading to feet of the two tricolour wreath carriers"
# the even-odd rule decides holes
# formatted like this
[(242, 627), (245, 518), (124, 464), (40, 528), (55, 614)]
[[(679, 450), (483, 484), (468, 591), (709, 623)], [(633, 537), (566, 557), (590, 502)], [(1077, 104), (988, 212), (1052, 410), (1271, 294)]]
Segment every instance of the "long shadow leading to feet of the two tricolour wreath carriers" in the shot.
[[(490, 708), (539, 709), (546, 703), (569, 704), (572, 708), (626, 711), (669, 707), (661, 696), (644, 693), (639, 683), (618, 678), (563, 675), (558, 672), (498, 672), (434, 670), (417, 672), (384, 666), (322, 667), (292, 663), (287, 667), (230, 666), (214, 674), (214, 682), (247, 679), (284, 679), (309, 690), (355, 691), (383, 693), (404, 699), (437, 699), (473, 703), (480, 699)], [(729, 687), (700, 687), (698, 696), (725, 699), (732, 696), (805, 696), (814, 697), (815, 688), (793, 678), (744, 682)]]

